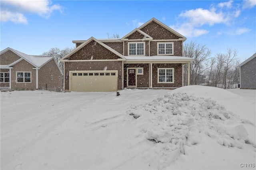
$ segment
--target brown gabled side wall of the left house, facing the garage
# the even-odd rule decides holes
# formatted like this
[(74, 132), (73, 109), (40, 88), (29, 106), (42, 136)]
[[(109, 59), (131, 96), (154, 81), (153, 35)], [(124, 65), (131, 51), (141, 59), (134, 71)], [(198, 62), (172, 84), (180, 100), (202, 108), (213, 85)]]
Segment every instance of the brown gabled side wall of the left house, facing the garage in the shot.
[(62, 74), (60, 73), (54, 59), (51, 59), (47, 64), (38, 70), (38, 90), (50, 90), (58, 92), (58, 88), (60, 88), (61, 92)]

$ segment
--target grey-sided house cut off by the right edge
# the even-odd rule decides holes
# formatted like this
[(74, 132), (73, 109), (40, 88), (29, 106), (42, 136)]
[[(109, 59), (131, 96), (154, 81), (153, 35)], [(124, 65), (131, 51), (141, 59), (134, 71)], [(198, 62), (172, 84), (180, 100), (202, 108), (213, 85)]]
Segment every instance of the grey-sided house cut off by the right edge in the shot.
[(236, 68), (240, 68), (240, 88), (256, 89), (256, 53)]

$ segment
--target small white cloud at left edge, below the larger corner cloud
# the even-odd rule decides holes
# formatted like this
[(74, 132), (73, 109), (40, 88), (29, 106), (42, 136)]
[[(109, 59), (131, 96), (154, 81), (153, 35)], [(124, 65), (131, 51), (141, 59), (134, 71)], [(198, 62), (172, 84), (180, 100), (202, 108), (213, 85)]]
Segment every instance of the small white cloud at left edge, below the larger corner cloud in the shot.
[(1, 15), (1, 21), (12, 21), (14, 23), (24, 23), (27, 24), (27, 18), (23, 15), (20, 14), (18, 12), (14, 13), (14, 12), (9, 12), (9, 11), (2, 11), (0, 12)]

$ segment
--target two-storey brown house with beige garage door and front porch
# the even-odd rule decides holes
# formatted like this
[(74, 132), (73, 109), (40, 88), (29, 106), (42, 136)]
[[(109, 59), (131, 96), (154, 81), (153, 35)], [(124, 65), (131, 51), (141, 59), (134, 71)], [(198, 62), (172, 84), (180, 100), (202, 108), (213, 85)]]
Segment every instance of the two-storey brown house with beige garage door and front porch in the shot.
[(183, 85), (186, 37), (152, 18), (118, 39), (72, 41), (64, 62), (64, 90), (111, 92), (124, 88), (178, 88)]

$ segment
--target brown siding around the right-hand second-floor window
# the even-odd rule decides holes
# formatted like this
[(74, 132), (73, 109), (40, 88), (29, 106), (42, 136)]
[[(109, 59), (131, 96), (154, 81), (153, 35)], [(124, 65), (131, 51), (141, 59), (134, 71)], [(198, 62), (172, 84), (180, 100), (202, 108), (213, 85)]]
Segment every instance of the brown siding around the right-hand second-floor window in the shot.
[(150, 42), (150, 56), (158, 55), (157, 43), (169, 43), (169, 42), (170, 43), (173, 42), (173, 48), (174, 48), (173, 55), (182, 57), (182, 41), (159, 41), (159, 42), (151, 41)]

